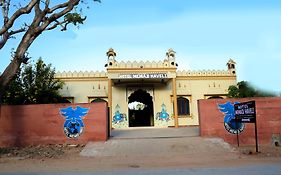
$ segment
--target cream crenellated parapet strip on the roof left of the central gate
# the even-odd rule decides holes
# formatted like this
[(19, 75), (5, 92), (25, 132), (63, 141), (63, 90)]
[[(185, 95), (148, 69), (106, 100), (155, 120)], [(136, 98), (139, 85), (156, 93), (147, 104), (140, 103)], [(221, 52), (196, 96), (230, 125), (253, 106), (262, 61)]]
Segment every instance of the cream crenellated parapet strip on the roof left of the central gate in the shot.
[(107, 78), (105, 71), (68, 71), (68, 72), (57, 72), (55, 78)]

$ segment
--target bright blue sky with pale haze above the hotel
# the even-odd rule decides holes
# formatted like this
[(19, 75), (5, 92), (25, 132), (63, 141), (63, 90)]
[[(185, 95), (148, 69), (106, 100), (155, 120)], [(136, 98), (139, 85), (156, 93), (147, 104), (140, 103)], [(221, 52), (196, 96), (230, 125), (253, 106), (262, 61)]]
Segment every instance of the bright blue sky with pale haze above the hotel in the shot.
[[(231, 58), (237, 81), (281, 92), (280, 0), (102, 0), (88, 5), (79, 28), (39, 36), (28, 50), (31, 62), (42, 57), (57, 71), (106, 71), (111, 47), (117, 61), (161, 61), (173, 48), (178, 70), (226, 70)], [(0, 72), (18, 38), (0, 50)]]

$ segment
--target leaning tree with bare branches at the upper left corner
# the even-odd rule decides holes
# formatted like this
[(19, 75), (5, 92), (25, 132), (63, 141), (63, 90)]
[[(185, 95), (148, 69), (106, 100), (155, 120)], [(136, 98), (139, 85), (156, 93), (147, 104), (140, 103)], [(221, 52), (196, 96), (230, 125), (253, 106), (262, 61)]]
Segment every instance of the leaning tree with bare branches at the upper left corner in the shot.
[[(0, 102), (5, 88), (16, 75), (21, 64), (27, 63), (29, 59), (27, 50), (38, 36), (57, 27), (65, 31), (68, 24), (82, 24), (86, 19), (75, 9), (80, 4), (87, 3), (87, 0), (65, 0), (59, 1), (60, 3), (51, 0), (21, 0), (17, 4), (11, 1), (0, 0), (3, 16), (3, 25), (0, 28), (0, 50), (17, 34), (21, 33), (22, 38), (11, 56), (10, 64), (0, 76)], [(100, 2), (100, 0), (92, 1)], [(20, 19), (24, 15), (29, 15), (29, 18), (24, 18), (28, 21)], [(18, 27), (16, 23), (21, 23), (21, 26)]]

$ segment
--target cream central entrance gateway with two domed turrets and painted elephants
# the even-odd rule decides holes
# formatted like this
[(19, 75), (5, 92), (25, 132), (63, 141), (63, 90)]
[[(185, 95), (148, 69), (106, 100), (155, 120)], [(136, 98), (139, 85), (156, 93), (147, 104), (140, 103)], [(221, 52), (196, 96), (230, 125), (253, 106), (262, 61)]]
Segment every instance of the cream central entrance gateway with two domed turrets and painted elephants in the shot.
[[(113, 49), (107, 56), (112, 127), (178, 127), (175, 52), (170, 49), (167, 59), (158, 63), (118, 63)], [(157, 117), (161, 112), (167, 114), (165, 120)], [(120, 114), (123, 120), (116, 121)]]

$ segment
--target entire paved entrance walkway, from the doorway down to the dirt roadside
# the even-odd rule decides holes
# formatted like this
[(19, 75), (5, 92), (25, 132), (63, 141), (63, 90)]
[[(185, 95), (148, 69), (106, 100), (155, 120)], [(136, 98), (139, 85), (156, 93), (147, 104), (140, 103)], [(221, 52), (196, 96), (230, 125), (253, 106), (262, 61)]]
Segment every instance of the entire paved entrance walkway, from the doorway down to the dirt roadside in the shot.
[(222, 139), (199, 137), (198, 127), (133, 128), (112, 130), (107, 142), (89, 142), (83, 156), (167, 156), (191, 154), (232, 154)]

